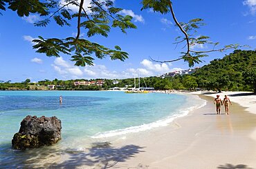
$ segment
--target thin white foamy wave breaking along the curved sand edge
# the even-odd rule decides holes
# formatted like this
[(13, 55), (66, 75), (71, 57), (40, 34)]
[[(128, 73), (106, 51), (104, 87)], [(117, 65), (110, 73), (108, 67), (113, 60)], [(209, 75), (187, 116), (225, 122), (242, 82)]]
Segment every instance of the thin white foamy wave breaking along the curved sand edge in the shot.
[(151, 130), (152, 128), (168, 126), (170, 123), (172, 123), (172, 121), (174, 121), (174, 119), (176, 119), (178, 117), (184, 117), (184, 116), (188, 115), (188, 113), (191, 112), (192, 110), (202, 108), (203, 106), (206, 105), (207, 101), (200, 99), (200, 98), (198, 98), (198, 99), (203, 101), (203, 103), (201, 105), (185, 108), (185, 110), (181, 110), (176, 115), (172, 115), (170, 117), (167, 117), (166, 119), (161, 119), (161, 120), (154, 121), (152, 123), (143, 124), (140, 126), (133, 126), (133, 127), (119, 129), (119, 130), (111, 130), (111, 131), (102, 132), (102, 133), (100, 132), (96, 135), (93, 135), (91, 138), (101, 139), (101, 138), (107, 138), (107, 137), (115, 137), (118, 135), (126, 135), (128, 133), (134, 133), (134, 132), (143, 132), (145, 130)]

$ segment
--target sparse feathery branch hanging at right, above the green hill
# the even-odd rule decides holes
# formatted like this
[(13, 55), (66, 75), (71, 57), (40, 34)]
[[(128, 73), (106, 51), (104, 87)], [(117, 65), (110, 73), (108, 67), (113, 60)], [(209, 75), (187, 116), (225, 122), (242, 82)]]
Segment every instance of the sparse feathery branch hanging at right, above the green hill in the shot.
[[(222, 48), (216, 48), (219, 45), (219, 42), (212, 42), (210, 41), (210, 37), (196, 34), (199, 28), (205, 25), (205, 23), (203, 23), (203, 19), (191, 19), (186, 23), (178, 21), (174, 13), (174, 7), (171, 0), (143, 0), (142, 3), (143, 8), (141, 8), (141, 10), (150, 8), (154, 12), (160, 12), (161, 14), (171, 14), (172, 20), (183, 34), (183, 36), (176, 37), (176, 42), (174, 44), (176, 44), (176, 46), (178, 46), (179, 44), (183, 44), (184, 46), (185, 43), (185, 47), (183, 48), (186, 48), (185, 51), (181, 52), (180, 57), (176, 57), (177, 59), (172, 59), (168, 61), (158, 61), (150, 57), (152, 61), (165, 63), (179, 61), (183, 59), (183, 61), (188, 62), (188, 66), (192, 67), (196, 63), (201, 63), (201, 58), (207, 57), (209, 52), (223, 52), (229, 49), (237, 49), (239, 47), (242, 47), (239, 44), (230, 44), (227, 46), (223, 46)], [(192, 48), (194, 46), (206, 44), (209, 47), (212, 46), (210, 50), (197, 51), (193, 50)]]

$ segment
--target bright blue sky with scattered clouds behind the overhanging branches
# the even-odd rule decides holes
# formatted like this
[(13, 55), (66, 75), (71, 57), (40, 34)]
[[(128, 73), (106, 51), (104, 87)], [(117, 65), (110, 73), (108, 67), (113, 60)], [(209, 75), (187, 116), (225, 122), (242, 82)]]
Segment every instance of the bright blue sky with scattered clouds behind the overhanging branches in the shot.
[[(89, 3), (89, 0), (86, 0)], [(125, 9), (122, 14), (130, 14), (138, 27), (136, 30), (128, 30), (122, 34), (114, 28), (109, 37), (95, 36), (91, 41), (98, 42), (109, 48), (120, 46), (129, 53), (129, 59), (125, 62), (95, 59), (94, 66), (77, 67), (69, 61), (70, 57), (46, 57), (33, 50), (32, 39), (42, 36), (71, 37), (75, 36), (75, 26), (60, 27), (53, 21), (46, 28), (33, 26), (33, 22), (40, 18), (33, 14), (30, 17), (18, 17), (16, 12), (2, 11), (0, 15), (0, 81), (39, 81), (44, 79), (122, 79), (140, 76), (159, 75), (179, 69), (188, 69), (188, 63), (177, 61), (173, 63), (154, 63), (149, 57), (159, 60), (176, 59), (180, 56), (181, 48), (175, 49), (174, 39), (182, 35), (174, 26), (170, 14), (158, 14), (151, 10), (140, 11), (140, 1), (116, 0), (115, 6)], [(199, 35), (208, 35), (212, 41), (219, 41), (220, 46), (230, 43), (248, 45), (256, 48), (256, 0), (218, 0), (218, 1), (189, 1), (174, 0), (174, 10), (179, 21), (189, 21), (194, 18), (202, 18), (206, 23), (198, 32)], [(86, 34), (82, 30), (82, 34)], [(210, 46), (196, 46), (197, 50), (209, 50)], [(232, 52), (214, 52), (210, 57), (204, 58), (204, 62), (196, 65), (203, 66), (212, 59), (222, 58)]]

